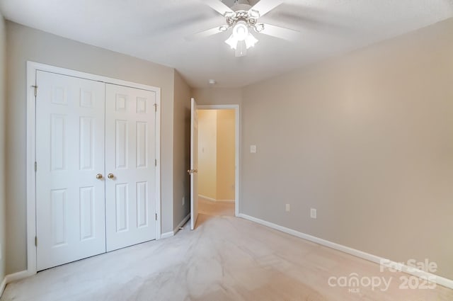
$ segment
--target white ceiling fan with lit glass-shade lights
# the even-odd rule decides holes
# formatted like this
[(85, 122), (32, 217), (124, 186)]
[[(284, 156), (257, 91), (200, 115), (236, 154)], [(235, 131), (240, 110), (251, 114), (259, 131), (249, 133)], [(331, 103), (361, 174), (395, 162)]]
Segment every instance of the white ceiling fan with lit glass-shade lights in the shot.
[(272, 35), (273, 37), (285, 40), (294, 40), (299, 36), (299, 31), (297, 30), (258, 21), (260, 17), (282, 4), (283, 0), (260, 0), (254, 6), (251, 6), (248, 0), (235, 0), (231, 8), (219, 0), (202, 1), (214, 9), (214, 11), (222, 14), (226, 23), (190, 35), (186, 38), (188, 40), (196, 40), (215, 35), (216, 33), (223, 33), (231, 28), (231, 35), (225, 42), (231, 49), (235, 50), (236, 57), (243, 57), (247, 54), (248, 48), (253, 47), (258, 42), (251, 31), (259, 34)]

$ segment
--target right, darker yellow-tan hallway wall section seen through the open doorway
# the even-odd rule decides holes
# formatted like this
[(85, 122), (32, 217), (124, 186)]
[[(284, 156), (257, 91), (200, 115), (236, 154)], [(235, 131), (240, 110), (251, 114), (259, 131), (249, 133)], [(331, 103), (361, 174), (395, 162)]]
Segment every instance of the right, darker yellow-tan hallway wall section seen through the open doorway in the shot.
[(235, 110), (217, 110), (217, 200), (234, 200)]

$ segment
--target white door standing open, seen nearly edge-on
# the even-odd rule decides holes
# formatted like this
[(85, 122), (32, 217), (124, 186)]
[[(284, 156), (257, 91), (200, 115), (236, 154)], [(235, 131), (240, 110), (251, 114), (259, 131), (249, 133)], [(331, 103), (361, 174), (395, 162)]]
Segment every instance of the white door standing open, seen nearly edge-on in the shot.
[(198, 217), (198, 115), (195, 99), (190, 101), (190, 229)]

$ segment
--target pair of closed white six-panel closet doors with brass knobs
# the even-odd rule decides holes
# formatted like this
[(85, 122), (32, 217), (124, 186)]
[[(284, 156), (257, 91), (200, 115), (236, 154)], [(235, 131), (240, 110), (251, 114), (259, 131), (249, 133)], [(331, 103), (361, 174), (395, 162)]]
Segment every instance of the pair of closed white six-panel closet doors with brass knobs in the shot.
[(37, 269), (156, 238), (156, 93), (36, 74)]

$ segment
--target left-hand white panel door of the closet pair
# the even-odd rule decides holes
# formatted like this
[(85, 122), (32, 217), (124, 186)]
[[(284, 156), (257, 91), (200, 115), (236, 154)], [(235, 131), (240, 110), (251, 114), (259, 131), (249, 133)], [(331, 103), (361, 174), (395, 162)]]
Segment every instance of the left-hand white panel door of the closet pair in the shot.
[(37, 268), (105, 252), (104, 84), (36, 74)]

